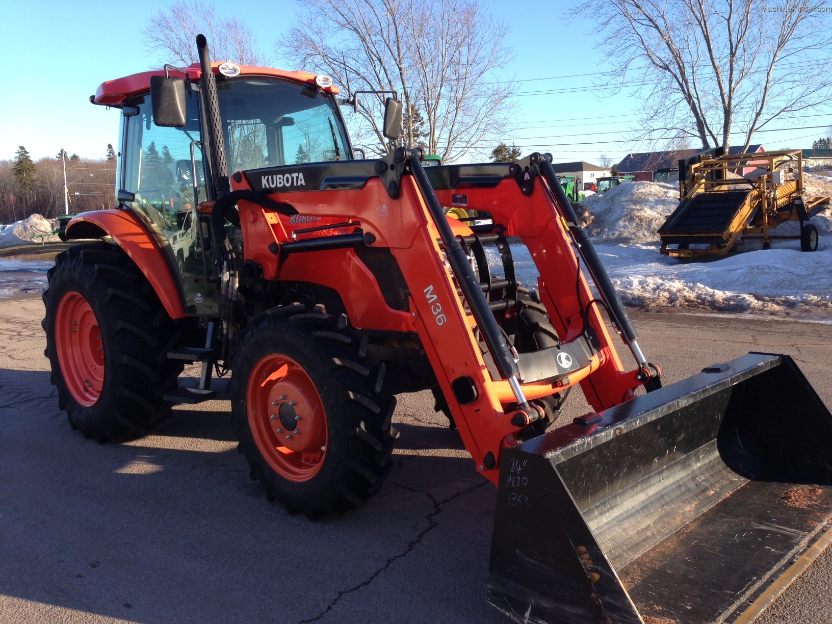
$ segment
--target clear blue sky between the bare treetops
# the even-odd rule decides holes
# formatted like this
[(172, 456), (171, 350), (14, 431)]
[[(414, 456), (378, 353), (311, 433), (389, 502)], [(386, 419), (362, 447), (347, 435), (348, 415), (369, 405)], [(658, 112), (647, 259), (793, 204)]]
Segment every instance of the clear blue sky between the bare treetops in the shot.
[[(592, 87), (592, 76), (601, 68), (596, 41), (588, 35), (592, 24), (562, 18), (570, 2), (481, 2), (511, 28), (508, 42), (516, 60), (509, 74), (523, 81), (516, 106), (524, 129), (506, 136), (508, 142), (522, 146), (524, 154), (552, 151), (557, 161), (597, 162), (602, 153), (618, 161), (639, 149), (623, 142), (617, 133), (626, 122), (636, 120), (637, 103), (628, 94), (599, 99), (589, 90), (537, 93)], [(161, 59), (146, 51), (139, 31), (153, 12), (165, 6), (166, 2), (153, 0), (6, 2), (0, 22), (0, 57), (7, 67), (0, 92), (4, 121), (0, 159), (12, 158), (19, 145), (35, 158), (55, 156), (62, 147), (70, 154), (104, 156), (106, 144), (116, 144), (118, 115), (92, 106), (88, 97), (105, 80), (161, 66)], [(294, 18), (295, 2), (217, 0), (215, 6), (220, 15), (236, 12), (245, 17), (275, 67), (295, 69), (274, 57), (272, 45)], [(787, 120), (777, 127), (825, 123), (832, 123), (832, 116)], [(823, 130), (797, 130), (758, 138), (770, 148), (796, 148), (810, 147), (812, 137), (824, 134)], [(544, 143), (548, 146), (532, 147)]]

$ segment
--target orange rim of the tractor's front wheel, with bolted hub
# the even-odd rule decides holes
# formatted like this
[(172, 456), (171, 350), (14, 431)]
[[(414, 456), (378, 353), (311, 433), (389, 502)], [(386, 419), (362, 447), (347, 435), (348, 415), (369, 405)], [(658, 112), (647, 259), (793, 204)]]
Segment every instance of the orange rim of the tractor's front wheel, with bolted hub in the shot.
[(309, 374), (282, 354), (261, 358), (252, 369), (245, 404), (260, 453), (281, 477), (308, 481), (324, 463), (324, 404)]

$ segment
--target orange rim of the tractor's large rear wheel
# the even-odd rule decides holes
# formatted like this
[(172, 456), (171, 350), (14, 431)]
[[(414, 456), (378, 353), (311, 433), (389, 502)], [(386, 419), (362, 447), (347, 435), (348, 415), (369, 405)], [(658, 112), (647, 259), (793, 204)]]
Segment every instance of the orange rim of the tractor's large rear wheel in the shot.
[(104, 343), (96, 313), (76, 290), (58, 301), (55, 346), (72, 399), (87, 408), (95, 405), (104, 387)]

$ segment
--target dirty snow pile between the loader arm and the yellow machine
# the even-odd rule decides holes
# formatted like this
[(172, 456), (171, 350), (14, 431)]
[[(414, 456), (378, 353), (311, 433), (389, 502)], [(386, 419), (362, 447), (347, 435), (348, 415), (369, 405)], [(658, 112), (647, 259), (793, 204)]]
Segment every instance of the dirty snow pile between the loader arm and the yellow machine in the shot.
[(582, 204), (595, 217), (588, 232), (597, 244), (643, 245), (659, 240), (656, 231), (679, 206), (679, 188), (633, 182), (589, 196)]

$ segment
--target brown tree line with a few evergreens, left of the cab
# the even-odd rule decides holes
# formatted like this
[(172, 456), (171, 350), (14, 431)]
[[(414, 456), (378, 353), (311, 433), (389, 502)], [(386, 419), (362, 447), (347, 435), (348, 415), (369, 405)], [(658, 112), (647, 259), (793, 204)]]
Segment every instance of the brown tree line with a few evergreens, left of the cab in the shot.
[[(64, 161), (68, 202), (64, 200)], [(59, 151), (55, 157), (32, 160), (19, 146), (13, 160), (0, 161), (0, 223), (13, 223), (35, 213), (49, 219), (70, 212), (103, 210), (115, 201), (116, 153), (107, 146), (102, 159)]]

